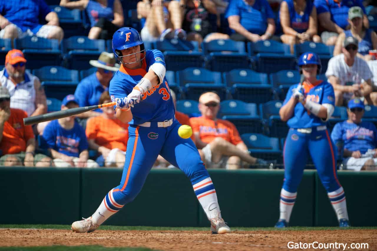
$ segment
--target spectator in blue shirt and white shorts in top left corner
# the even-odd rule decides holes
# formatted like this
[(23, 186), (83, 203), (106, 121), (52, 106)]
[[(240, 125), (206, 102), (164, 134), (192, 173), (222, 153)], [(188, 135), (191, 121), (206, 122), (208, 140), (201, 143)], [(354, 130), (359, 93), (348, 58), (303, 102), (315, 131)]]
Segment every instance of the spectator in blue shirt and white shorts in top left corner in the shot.
[[(46, 20), (40, 24), (39, 20)], [(64, 37), (59, 18), (44, 0), (12, 0), (0, 2), (0, 38), (37, 37), (58, 39)]]

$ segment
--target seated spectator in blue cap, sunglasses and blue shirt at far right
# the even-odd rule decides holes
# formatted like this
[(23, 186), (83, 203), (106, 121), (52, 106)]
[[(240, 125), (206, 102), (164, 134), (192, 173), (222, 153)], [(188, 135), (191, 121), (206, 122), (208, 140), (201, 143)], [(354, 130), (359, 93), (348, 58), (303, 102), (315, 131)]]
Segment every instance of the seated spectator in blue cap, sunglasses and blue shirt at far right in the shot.
[[(364, 103), (348, 102), (348, 119), (335, 125), (331, 139), (343, 147), (343, 166), (349, 170), (377, 170), (377, 129), (372, 122), (362, 121)], [(342, 152), (338, 150), (338, 152)]]

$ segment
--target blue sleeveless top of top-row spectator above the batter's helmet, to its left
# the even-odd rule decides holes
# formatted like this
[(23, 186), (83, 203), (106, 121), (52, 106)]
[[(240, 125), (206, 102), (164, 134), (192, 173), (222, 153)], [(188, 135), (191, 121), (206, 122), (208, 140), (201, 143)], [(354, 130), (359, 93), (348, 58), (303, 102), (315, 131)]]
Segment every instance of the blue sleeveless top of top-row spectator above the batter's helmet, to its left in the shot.
[(97, 1), (89, 0), (88, 5), (86, 6), (86, 13), (88, 14), (90, 20), (90, 26), (93, 27), (98, 19), (101, 17), (106, 18), (109, 21), (114, 19), (113, 13), (114, 0), (107, 0), (107, 6), (103, 7)]

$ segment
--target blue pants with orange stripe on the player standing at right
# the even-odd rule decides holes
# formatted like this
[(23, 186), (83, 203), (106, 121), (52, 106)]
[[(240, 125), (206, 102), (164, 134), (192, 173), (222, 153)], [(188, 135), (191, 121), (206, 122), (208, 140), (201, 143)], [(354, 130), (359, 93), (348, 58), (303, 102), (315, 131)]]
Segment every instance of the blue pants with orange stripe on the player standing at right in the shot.
[(303, 170), (308, 161), (308, 153), (317, 168), (318, 176), (327, 192), (340, 188), (336, 171), (336, 151), (328, 130), (300, 133), (291, 128), (284, 144), (284, 190), (296, 193)]

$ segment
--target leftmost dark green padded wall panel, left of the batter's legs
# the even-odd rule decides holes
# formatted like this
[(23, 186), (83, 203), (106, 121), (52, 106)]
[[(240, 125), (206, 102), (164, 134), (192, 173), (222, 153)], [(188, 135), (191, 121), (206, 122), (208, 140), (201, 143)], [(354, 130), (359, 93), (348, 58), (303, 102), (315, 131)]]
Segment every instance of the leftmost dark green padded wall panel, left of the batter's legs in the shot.
[(1, 224), (70, 224), (80, 216), (80, 169), (0, 167)]

